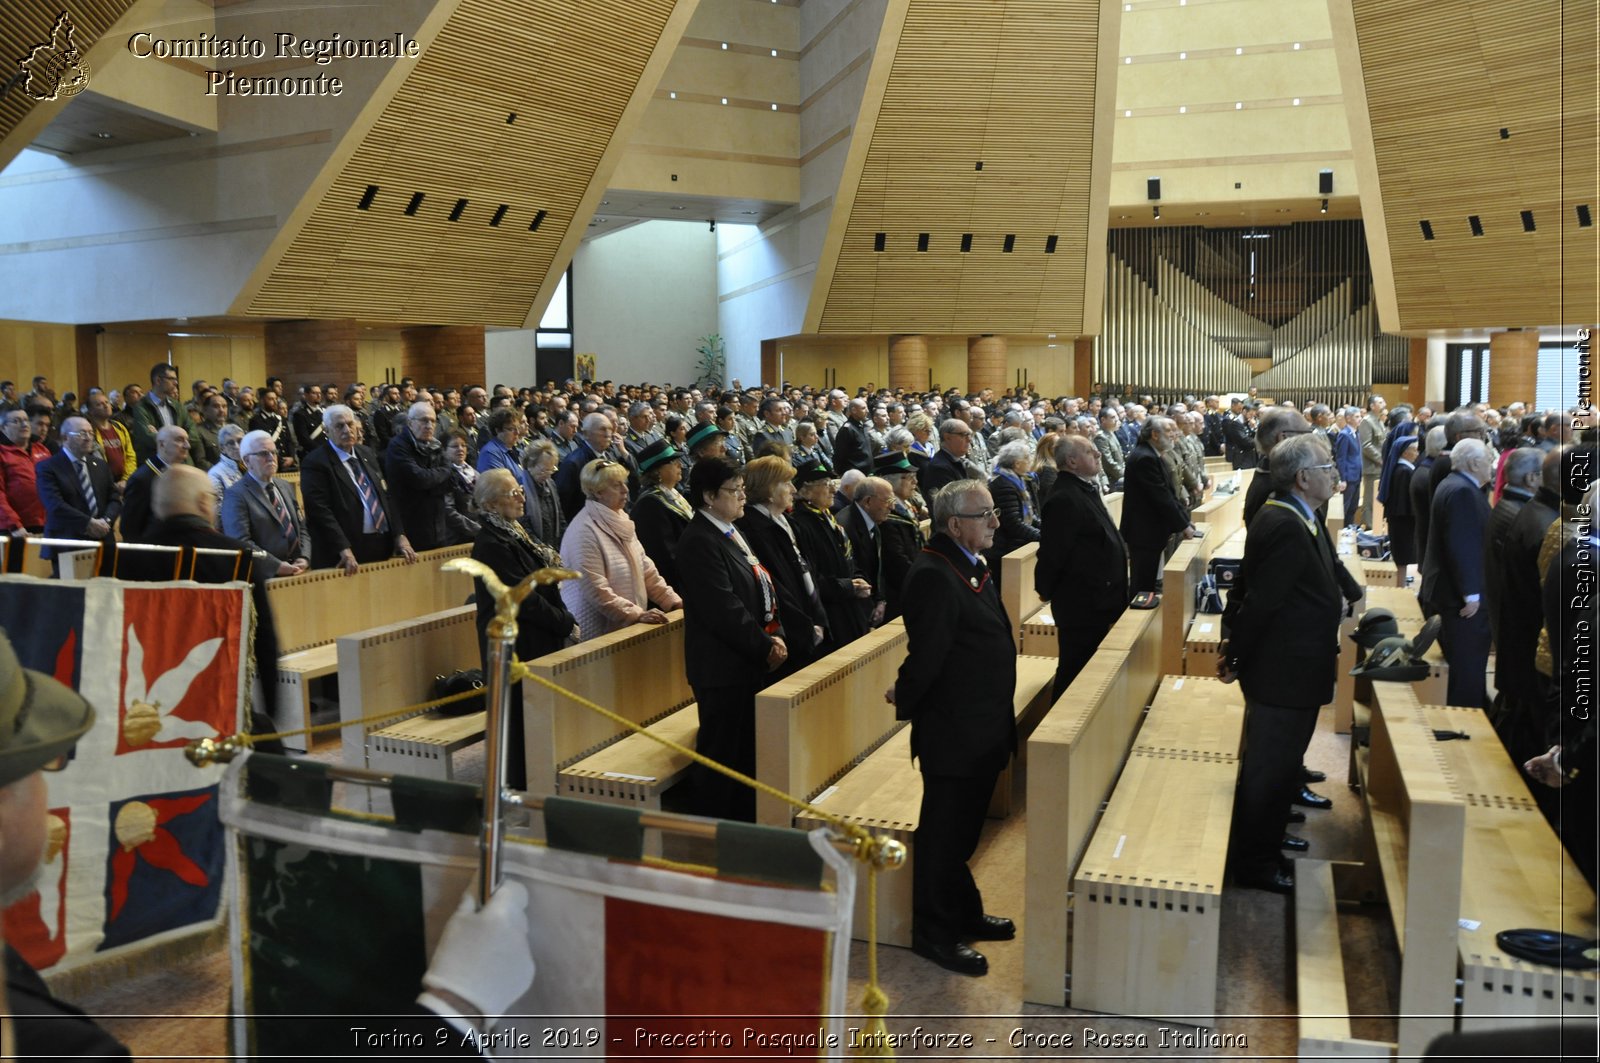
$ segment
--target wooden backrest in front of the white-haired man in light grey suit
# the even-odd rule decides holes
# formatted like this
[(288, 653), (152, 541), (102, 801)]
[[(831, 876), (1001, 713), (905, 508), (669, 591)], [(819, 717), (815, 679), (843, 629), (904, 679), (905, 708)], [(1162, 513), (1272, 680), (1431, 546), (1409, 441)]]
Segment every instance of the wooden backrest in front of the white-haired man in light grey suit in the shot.
[(443, 572), (440, 565), (470, 556), (470, 546), (443, 546), (418, 554), (414, 565), (395, 557), (362, 565), (354, 576), (342, 568), (317, 568), (267, 580), (278, 652), (294, 653), (339, 636), (462, 605), (472, 596), (472, 576)]

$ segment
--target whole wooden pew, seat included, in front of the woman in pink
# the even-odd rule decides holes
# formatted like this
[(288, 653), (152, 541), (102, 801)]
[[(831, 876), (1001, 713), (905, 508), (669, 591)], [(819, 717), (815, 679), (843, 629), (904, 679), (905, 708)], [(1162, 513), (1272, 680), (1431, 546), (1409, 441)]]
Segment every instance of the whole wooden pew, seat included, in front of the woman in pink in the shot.
[[(683, 612), (630, 624), (528, 663), (536, 676), (634, 724), (694, 746), (699, 712), (683, 672)], [(522, 685), (528, 792), (661, 807), (690, 759), (534, 682)]]

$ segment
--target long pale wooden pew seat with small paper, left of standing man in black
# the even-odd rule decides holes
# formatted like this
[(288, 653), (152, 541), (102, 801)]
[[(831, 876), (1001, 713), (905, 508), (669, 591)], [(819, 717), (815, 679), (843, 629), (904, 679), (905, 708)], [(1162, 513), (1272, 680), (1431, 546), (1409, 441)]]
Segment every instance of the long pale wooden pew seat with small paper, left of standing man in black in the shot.
[(1162, 680), (1074, 876), (1072, 1007), (1214, 1023), (1243, 727), (1237, 684)]

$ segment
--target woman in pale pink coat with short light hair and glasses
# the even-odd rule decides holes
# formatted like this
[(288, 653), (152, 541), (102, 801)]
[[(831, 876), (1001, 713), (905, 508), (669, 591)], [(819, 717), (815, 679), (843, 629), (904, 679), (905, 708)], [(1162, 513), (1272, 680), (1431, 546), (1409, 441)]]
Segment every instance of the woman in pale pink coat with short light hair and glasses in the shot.
[(562, 600), (578, 618), (581, 637), (629, 624), (664, 624), (664, 610), (680, 608), (683, 599), (656, 572), (634, 533), (634, 520), (622, 512), (627, 469), (600, 458), (584, 466), (578, 482), (587, 501), (566, 525), (562, 559), (584, 578), (563, 583)]

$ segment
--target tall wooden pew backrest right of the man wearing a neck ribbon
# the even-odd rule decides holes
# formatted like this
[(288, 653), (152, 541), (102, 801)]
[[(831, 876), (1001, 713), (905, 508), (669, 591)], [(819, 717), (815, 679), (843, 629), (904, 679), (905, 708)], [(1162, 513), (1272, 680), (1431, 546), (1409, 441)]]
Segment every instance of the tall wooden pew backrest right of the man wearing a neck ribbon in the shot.
[(1165, 608), (1123, 613), (1027, 740), (1024, 1001), (1066, 1004), (1072, 876), (1160, 679)]

